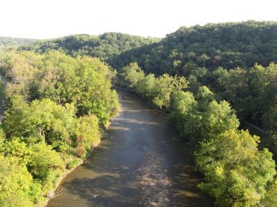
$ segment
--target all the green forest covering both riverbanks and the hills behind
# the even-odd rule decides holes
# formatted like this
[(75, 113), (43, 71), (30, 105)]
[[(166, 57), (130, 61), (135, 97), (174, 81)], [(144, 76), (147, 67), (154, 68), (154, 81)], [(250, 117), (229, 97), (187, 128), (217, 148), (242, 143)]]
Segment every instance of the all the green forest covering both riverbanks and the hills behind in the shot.
[[(39, 203), (98, 144), (119, 110), (113, 83), (168, 113), (217, 206), (274, 206), (276, 48), (276, 22), (247, 21), (181, 27), (164, 39), (72, 35), (1, 52), (1, 206)], [(267, 135), (241, 130), (242, 121)]]

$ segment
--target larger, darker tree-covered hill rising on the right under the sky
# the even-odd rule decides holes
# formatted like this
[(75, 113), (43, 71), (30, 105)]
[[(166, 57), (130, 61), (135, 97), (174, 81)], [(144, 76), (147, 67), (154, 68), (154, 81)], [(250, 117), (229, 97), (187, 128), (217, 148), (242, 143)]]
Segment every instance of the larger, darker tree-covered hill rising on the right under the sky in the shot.
[(186, 75), (190, 68), (250, 68), (277, 61), (277, 23), (247, 21), (181, 27), (159, 43), (123, 52), (111, 65), (137, 61), (145, 72)]

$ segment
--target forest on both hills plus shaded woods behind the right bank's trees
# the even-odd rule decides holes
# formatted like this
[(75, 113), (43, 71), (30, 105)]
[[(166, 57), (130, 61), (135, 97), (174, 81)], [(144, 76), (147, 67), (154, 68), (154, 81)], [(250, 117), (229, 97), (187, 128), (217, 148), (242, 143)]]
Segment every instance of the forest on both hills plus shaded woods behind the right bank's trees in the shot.
[(262, 146), (277, 156), (277, 67), (271, 63), (277, 61), (276, 48), (276, 22), (246, 21), (181, 27), (161, 41), (105, 33), (38, 41), (21, 49), (60, 49), (73, 56), (100, 57), (119, 74), (137, 62), (146, 74), (186, 77), (191, 92), (207, 86), (217, 101), (229, 101), (242, 121), (266, 130), (269, 139)]

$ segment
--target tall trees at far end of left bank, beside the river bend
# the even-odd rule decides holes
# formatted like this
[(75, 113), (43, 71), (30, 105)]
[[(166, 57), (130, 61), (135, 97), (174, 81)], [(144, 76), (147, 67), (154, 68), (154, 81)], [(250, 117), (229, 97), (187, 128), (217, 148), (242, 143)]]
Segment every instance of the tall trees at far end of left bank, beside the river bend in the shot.
[(72, 103), (78, 116), (92, 113), (102, 126), (119, 110), (118, 97), (111, 90), (116, 72), (99, 59), (73, 58), (55, 51), (44, 55), (10, 52), (6, 65), (8, 97), (48, 98), (63, 106)]

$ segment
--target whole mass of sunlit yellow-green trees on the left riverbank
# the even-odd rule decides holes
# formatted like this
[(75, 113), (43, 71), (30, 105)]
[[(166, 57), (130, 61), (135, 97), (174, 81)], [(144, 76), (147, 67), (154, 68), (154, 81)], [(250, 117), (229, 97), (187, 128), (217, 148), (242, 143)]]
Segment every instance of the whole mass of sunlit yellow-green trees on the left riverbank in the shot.
[(92, 57), (3, 52), (5, 121), (0, 133), (0, 206), (53, 196), (66, 170), (100, 142), (119, 110), (114, 70)]

